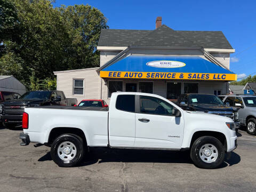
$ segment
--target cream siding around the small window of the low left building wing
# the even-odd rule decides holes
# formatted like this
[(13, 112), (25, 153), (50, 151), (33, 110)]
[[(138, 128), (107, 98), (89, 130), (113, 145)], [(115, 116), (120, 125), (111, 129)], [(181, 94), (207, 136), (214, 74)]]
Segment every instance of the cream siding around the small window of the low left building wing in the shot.
[[(98, 68), (71, 70), (57, 73), (57, 90), (63, 91), (67, 98), (77, 98), (77, 102), (83, 99), (100, 99), (100, 77)], [(73, 94), (73, 79), (84, 79), (84, 94)]]

